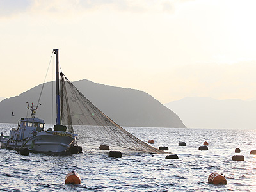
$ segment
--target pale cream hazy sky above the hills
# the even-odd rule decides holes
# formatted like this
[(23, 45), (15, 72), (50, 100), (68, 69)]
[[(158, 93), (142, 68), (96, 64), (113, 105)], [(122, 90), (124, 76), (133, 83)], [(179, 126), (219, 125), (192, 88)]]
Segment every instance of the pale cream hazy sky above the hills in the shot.
[[(256, 98), (256, 1), (0, 0), (0, 97), (70, 81), (183, 97)], [(52, 80), (52, 69), (47, 81)]]

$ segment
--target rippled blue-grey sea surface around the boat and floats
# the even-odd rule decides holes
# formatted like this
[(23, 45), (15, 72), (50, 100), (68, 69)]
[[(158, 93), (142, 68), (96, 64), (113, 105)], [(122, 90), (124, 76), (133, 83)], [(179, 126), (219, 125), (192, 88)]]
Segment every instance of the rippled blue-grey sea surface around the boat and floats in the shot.
[[(0, 132), (8, 134), (16, 126), (0, 124)], [(125, 129), (143, 141), (154, 140), (156, 148), (168, 147), (179, 159), (140, 153), (123, 153), (114, 159), (99, 146), (77, 155), (21, 156), (0, 149), (0, 191), (256, 191), (256, 156), (250, 155), (256, 150), (256, 130)], [(86, 148), (86, 131), (75, 132), (79, 145)], [(178, 146), (179, 141), (187, 146)], [(204, 141), (209, 150), (199, 151)], [(244, 161), (232, 161), (236, 147)], [(72, 170), (81, 176), (80, 185), (65, 185), (65, 175)], [(208, 184), (213, 172), (225, 174), (227, 185)]]

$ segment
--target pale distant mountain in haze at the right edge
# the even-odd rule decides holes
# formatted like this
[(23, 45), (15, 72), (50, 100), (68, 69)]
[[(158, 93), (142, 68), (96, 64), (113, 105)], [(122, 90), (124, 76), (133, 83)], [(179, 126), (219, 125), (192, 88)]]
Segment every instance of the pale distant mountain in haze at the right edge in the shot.
[(165, 104), (187, 127), (255, 129), (256, 100), (186, 97)]

